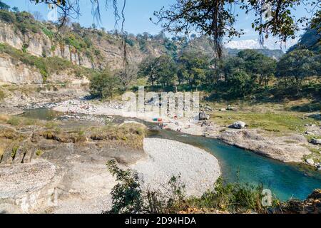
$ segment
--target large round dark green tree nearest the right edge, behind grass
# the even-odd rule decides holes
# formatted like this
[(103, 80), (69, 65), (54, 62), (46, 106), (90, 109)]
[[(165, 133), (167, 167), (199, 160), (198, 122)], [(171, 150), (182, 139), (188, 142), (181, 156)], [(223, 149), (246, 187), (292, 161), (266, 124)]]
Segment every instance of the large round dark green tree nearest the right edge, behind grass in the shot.
[(277, 63), (276, 76), (284, 79), (285, 87), (295, 86), (297, 92), (302, 82), (316, 73), (315, 54), (307, 49), (291, 51)]

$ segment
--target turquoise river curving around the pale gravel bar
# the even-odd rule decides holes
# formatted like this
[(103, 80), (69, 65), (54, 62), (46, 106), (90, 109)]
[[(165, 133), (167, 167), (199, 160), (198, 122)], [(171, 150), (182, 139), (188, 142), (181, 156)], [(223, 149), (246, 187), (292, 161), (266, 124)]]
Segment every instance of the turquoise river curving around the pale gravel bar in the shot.
[[(48, 109), (27, 110), (25, 117), (41, 120), (59, 118), (61, 113)], [(116, 118), (121, 121), (123, 118)], [(139, 121), (139, 120), (138, 120)], [(156, 125), (145, 123), (151, 128)], [(263, 184), (272, 190), (279, 199), (305, 199), (312, 190), (321, 188), (321, 172), (305, 166), (286, 164), (253, 152), (226, 145), (224, 142), (211, 138), (176, 133), (171, 130), (156, 130), (153, 138), (177, 140), (201, 147), (213, 153), (220, 162), (223, 178), (227, 182), (248, 182), (253, 185)]]

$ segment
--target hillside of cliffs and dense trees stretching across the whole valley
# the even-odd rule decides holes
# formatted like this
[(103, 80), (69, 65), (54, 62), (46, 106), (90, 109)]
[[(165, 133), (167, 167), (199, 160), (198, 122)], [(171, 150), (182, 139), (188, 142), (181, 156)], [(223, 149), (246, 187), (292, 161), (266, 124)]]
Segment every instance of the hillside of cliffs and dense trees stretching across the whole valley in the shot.
[[(113, 95), (110, 88), (102, 88), (106, 85), (105, 79), (113, 81), (113, 90), (135, 88), (140, 81), (142, 86), (151, 86), (151, 90), (203, 90), (208, 100), (315, 99), (320, 95), (320, 54), (317, 52), (320, 43), (316, 41), (317, 36), (310, 36), (309, 29), (301, 38), (300, 48), (298, 45), (285, 55), (268, 49), (225, 49), (223, 61), (213, 59), (213, 49), (206, 36), (167, 38), (164, 33), (126, 34), (128, 66), (125, 67), (123, 38), (117, 31), (97, 29), (94, 24), (83, 28), (70, 21), (58, 31), (56, 25), (36, 21), (31, 14), (19, 11), (1, 10), (0, 20), (9, 26), (2, 36), (13, 28), (15, 36), (21, 36), (23, 41), (21, 50), (1, 45), (0, 52), (35, 66), (44, 81), (63, 68), (93, 78), (92, 88), (101, 91), (93, 94), (96, 96)], [(42, 54), (34, 57), (34, 42), (41, 39)], [(309, 43), (311, 50), (305, 49), (309, 47), (304, 48), (304, 43)], [(95, 72), (76, 65), (93, 68)]]

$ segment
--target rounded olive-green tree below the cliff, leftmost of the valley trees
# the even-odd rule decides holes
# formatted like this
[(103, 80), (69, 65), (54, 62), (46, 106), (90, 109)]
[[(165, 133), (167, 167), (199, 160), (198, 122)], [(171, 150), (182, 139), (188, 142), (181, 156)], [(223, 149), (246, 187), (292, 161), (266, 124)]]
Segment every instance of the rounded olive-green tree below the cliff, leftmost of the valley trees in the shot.
[(96, 73), (91, 78), (90, 93), (98, 98), (112, 98), (119, 88), (119, 80), (108, 69)]

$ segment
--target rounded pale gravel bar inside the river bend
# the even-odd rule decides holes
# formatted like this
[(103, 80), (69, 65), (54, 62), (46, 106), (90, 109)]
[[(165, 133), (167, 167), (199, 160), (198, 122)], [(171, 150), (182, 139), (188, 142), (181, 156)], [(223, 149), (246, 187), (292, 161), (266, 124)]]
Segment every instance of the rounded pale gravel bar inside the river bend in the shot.
[(198, 147), (156, 138), (144, 140), (148, 157), (131, 165), (143, 177), (144, 187), (165, 191), (171, 177), (180, 175), (187, 195), (201, 196), (220, 177), (218, 160)]

